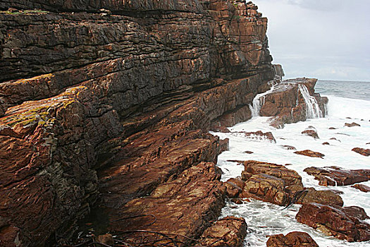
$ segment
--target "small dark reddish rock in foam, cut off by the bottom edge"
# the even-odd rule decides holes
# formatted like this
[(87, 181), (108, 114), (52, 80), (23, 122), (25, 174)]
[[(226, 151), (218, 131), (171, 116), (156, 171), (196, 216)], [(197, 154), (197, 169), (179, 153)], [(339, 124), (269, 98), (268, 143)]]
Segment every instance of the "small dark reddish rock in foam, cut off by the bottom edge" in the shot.
[(270, 236), (267, 247), (319, 247), (309, 234), (302, 231), (292, 231), (285, 236), (276, 234)]

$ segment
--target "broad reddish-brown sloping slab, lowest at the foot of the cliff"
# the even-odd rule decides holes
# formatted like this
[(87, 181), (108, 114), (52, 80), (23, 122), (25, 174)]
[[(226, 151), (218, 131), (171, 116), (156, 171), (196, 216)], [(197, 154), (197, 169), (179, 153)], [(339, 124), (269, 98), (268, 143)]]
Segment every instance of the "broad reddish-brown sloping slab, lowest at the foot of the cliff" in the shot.
[[(121, 233), (156, 231), (188, 244), (191, 242), (188, 238), (202, 234), (224, 205), (226, 188), (220, 178), (221, 171), (214, 163), (202, 162), (190, 167), (177, 179), (161, 184), (151, 195), (131, 200), (120, 210), (111, 212), (109, 228)], [(150, 234), (143, 232), (132, 234), (130, 239), (137, 236), (151, 239)], [(163, 241), (169, 243), (165, 237)]]

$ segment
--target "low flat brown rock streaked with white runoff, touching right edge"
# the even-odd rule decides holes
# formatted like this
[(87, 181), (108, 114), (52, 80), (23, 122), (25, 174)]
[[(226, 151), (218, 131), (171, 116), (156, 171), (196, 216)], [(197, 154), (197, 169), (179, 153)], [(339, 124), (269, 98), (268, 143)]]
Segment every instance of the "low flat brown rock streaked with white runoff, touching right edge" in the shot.
[(321, 186), (346, 186), (370, 180), (370, 170), (347, 170), (340, 167), (307, 167), (303, 171), (319, 180)]

